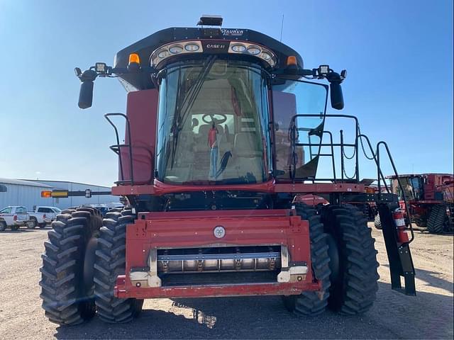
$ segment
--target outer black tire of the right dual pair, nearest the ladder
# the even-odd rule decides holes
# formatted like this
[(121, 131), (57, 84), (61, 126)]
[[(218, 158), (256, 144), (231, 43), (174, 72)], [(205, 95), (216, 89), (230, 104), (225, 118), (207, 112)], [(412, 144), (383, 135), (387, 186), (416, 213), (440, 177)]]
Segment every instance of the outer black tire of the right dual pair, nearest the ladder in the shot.
[(328, 306), (341, 314), (367, 312), (375, 301), (379, 278), (375, 239), (367, 218), (350, 205), (328, 205), (321, 217), (326, 232), (336, 241), (339, 260)]

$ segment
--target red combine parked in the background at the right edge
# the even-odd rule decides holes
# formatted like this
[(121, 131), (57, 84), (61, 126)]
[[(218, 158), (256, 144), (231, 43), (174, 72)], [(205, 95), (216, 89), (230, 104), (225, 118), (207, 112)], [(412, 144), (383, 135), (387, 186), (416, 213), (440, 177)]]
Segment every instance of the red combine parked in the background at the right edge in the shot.
[(426, 227), (431, 233), (454, 231), (453, 174), (399, 175), (399, 179), (396, 176), (388, 176), (388, 179), (391, 179), (392, 192), (400, 199), (401, 208), (405, 209), (403, 189), (412, 222)]

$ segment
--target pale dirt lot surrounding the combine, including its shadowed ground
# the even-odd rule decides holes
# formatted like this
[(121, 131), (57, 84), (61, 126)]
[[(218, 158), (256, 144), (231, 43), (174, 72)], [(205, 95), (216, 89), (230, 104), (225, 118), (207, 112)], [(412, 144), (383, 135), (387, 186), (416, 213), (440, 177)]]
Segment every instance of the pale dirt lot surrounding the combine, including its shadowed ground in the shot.
[(390, 288), (380, 231), (374, 230), (380, 261), (375, 306), (361, 317), (326, 312), (295, 317), (279, 297), (147, 300), (131, 324), (104, 324), (97, 317), (77, 327), (58, 327), (40, 307), (45, 230), (0, 233), (0, 339), (453, 339), (453, 236), (418, 232), (412, 244), (418, 295)]

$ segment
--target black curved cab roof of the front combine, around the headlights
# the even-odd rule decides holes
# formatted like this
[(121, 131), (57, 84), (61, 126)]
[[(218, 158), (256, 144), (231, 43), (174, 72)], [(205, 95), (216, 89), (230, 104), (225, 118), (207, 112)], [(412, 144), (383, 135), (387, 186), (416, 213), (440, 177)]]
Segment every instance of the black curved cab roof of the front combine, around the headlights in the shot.
[[(298, 67), (303, 68), (301, 56), (292, 48), (268, 35), (243, 28), (166, 28), (118, 52), (115, 56), (114, 67), (126, 67), (131, 53), (139, 55), (140, 66), (150, 66), (153, 52), (160, 47), (172, 42), (184, 43), (189, 40), (199, 41), (201, 47), (203, 47), (201, 50), (206, 55), (214, 53), (228, 55), (232, 52), (229, 49), (229, 45), (232, 45), (231, 42), (244, 42), (245, 45), (257, 44), (269, 49), (273, 54), (272, 62), (264, 63), (269, 72), (286, 67), (287, 57), (290, 55), (295, 56)], [(236, 54), (236, 57), (238, 57), (238, 54)], [(153, 89), (155, 87), (149, 74), (123, 74), (120, 76), (120, 80), (128, 91)]]

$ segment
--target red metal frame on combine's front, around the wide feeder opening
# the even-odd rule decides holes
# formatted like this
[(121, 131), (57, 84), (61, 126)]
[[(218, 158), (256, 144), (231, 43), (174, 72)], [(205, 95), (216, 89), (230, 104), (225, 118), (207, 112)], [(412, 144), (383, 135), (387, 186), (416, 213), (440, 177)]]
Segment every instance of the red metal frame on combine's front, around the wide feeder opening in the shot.
[[(222, 239), (214, 237), (218, 225), (226, 229)], [(293, 210), (144, 212), (126, 228), (126, 273), (133, 267), (147, 266), (150, 249), (237, 245), (284, 245), (290, 261), (304, 261), (311, 268), (309, 222)], [(128, 276), (119, 279), (120, 297), (290, 295), (319, 289), (318, 283), (312, 282), (310, 269), (306, 280), (297, 283), (137, 288)]]

